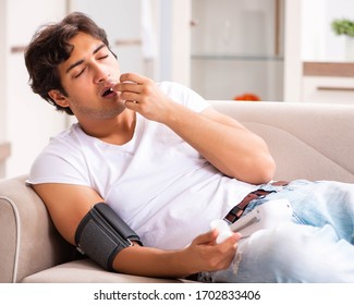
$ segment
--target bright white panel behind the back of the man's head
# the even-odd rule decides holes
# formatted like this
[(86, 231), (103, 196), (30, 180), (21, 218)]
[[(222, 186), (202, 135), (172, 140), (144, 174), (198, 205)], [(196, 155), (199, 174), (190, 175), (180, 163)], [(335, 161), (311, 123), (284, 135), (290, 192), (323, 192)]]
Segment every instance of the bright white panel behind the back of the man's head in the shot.
[(7, 108), (5, 133), (12, 148), (5, 172), (7, 176), (15, 176), (27, 173), (49, 137), (65, 127), (65, 115), (32, 93), (23, 51), (11, 51), (11, 48), (24, 48), (40, 24), (62, 19), (66, 7), (62, 0), (5, 2), (7, 24), (0, 30), (5, 30), (9, 48), (7, 70), (0, 72), (7, 78), (7, 94), (1, 107)]

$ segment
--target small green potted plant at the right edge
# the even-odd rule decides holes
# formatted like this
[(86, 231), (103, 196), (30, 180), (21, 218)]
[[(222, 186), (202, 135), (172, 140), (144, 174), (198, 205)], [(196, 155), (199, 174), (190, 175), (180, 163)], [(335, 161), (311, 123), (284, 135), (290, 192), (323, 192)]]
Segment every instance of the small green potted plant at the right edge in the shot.
[(354, 21), (347, 19), (333, 20), (331, 26), (337, 35), (345, 36), (346, 60), (354, 61)]

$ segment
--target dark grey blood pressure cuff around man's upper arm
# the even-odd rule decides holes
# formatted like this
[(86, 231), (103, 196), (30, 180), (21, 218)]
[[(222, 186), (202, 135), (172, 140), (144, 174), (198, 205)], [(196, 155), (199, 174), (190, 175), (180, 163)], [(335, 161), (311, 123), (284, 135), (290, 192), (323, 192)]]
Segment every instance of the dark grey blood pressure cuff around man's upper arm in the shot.
[(110, 271), (117, 254), (132, 246), (133, 241), (143, 245), (139, 236), (103, 203), (93, 206), (75, 233), (77, 249)]

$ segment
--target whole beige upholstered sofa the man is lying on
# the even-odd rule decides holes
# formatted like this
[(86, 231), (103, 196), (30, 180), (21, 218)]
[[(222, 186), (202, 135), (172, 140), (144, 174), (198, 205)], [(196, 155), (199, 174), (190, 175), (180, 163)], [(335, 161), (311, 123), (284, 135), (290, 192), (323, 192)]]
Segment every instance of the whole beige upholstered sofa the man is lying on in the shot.
[[(278, 163), (277, 179), (354, 182), (354, 106), (212, 103), (267, 141)], [(107, 272), (90, 259), (77, 260), (25, 179), (0, 182), (0, 282), (170, 281)]]

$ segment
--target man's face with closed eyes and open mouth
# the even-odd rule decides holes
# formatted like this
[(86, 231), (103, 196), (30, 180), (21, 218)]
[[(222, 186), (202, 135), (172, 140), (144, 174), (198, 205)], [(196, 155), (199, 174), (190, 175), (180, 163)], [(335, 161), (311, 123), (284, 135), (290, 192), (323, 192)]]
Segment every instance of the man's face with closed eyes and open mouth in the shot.
[(119, 83), (120, 69), (108, 47), (93, 36), (78, 33), (70, 41), (74, 46), (70, 58), (58, 71), (68, 96), (56, 99), (70, 107), (78, 120), (110, 119), (125, 106), (119, 93), (109, 89)]

